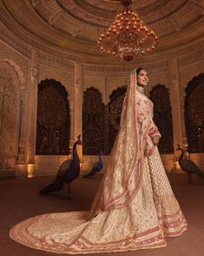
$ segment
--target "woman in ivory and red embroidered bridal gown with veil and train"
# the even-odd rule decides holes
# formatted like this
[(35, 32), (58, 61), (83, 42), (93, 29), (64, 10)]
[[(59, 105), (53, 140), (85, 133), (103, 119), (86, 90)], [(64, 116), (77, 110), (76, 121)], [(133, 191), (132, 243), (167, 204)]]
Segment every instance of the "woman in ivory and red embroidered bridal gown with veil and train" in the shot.
[(134, 70), (109, 166), (89, 212), (48, 213), (10, 230), (24, 246), (52, 253), (108, 253), (166, 246), (187, 228), (157, 149), (160, 132), (144, 95), (145, 69)]

